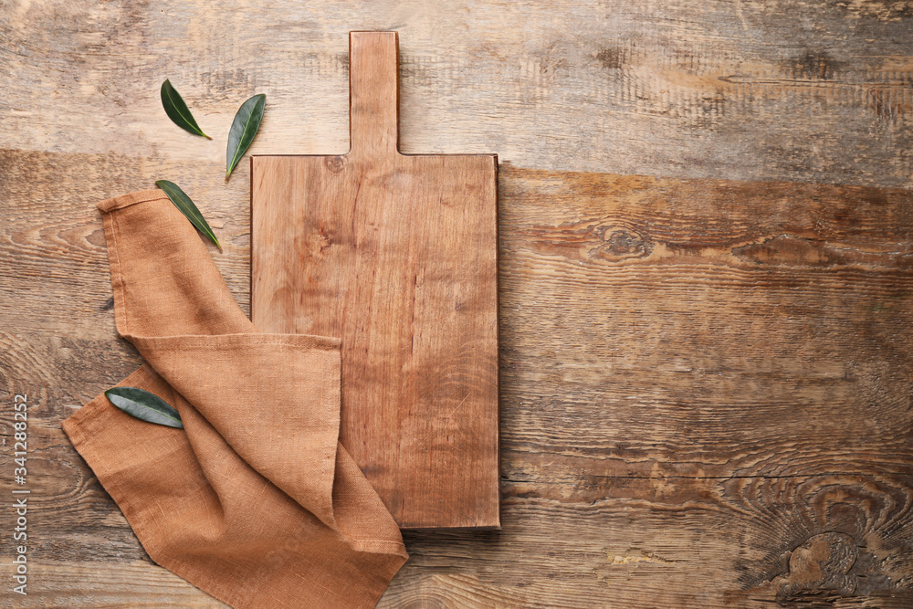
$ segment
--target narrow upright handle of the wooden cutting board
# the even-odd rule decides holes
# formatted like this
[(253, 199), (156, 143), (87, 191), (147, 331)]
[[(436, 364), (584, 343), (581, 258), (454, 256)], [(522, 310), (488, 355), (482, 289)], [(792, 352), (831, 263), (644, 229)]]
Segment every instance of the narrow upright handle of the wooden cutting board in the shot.
[(396, 32), (349, 32), (350, 153), (399, 153), (398, 76)]

